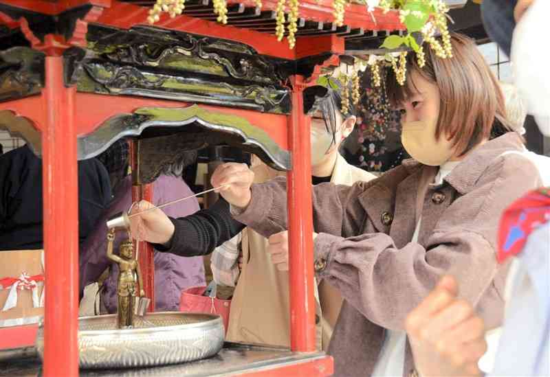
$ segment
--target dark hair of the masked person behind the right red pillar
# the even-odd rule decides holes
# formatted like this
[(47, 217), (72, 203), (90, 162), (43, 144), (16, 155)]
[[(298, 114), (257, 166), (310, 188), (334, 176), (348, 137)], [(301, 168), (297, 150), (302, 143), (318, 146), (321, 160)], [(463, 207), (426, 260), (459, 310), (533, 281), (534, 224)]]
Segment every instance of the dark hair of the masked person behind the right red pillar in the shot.
[(338, 131), (338, 115), (342, 122), (351, 116), (355, 116), (357, 111), (351, 103), (351, 84), (348, 85), (350, 106), (346, 113), (342, 113), (342, 83), (339, 80), (331, 78), (331, 81), (338, 86), (338, 89), (326, 88), (320, 85), (309, 87), (304, 90), (304, 113), (312, 115), (316, 111), (322, 113), (322, 118), (325, 119), (327, 131), (331, 133), (333, 142), (336, 141), (336, 132)]

